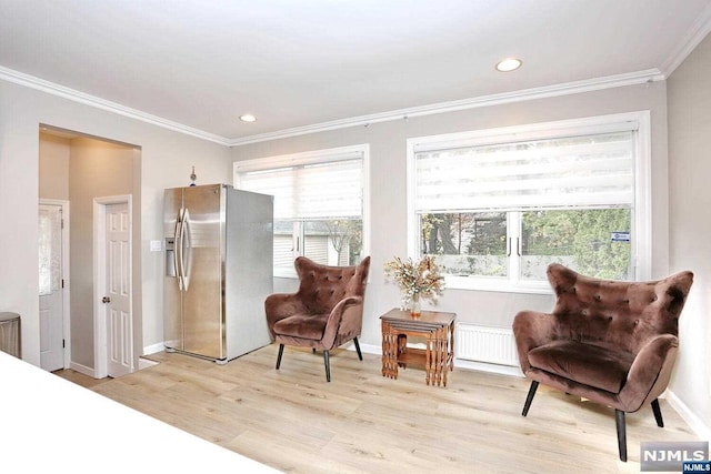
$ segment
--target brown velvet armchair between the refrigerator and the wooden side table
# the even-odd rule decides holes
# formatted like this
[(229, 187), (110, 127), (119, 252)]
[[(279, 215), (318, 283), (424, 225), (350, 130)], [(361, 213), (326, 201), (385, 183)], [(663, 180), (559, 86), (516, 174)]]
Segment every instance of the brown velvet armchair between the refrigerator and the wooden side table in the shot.
[(277, 370), (284, 345), (323, 351), (326, 380), (331, 381), (329, 351), (353, 340), (358, 359), (363, 360), (358, 344), (363, 297), (370, 269), (370, 256), (356, 266), (328, 266), (304, 256), (294, 261), (299, 291), (272, 294), (264, 301), (267, 325), (279, 343)]

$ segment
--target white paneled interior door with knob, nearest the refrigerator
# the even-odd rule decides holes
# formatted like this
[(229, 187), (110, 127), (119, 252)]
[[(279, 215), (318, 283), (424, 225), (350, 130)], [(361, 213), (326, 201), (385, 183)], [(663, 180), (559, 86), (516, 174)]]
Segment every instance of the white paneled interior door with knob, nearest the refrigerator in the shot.
[(106, 208), (107, 374), (112, 377), (133, 371), (131, 322), (131, 226), (128, 203)]

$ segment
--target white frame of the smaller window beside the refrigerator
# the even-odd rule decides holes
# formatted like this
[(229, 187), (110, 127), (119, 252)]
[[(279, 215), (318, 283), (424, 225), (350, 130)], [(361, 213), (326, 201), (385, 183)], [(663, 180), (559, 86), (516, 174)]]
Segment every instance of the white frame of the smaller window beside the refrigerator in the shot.
[[(288, 168), (288, 167), (301, 167), (323, 164), (334, 161), (352, 160), (360, 158), (362, 160), (362, 242), (361, 242), (361, 255), (368, 255), (370, 252), (370, 144), (361, 143), (348, 147), (338, 147), (330, 149), (320, 149), (312, 151), (304, 151), (298, 153), (280, 154), (274, 157), (257, 158), (251, 160), (234, 161), (232, 163), (232, 182), (234, 188), (239, 188), (240, 173), (250, 171), (266, 171), (270, 169)], [(303, 255), (304, 240), (300, 239), (300, 244), (297, 243), (297, 239), (302, 236), (304, 220), (296, 220), (294, 231), (292, 238), (294, 243), (292, 245), (292, 256), (296, 259), (299, 255)], [(299, 232), (299, 235), (297, 234)], [(298, 279), (296, 269), (273, 269), (274, 278)]]

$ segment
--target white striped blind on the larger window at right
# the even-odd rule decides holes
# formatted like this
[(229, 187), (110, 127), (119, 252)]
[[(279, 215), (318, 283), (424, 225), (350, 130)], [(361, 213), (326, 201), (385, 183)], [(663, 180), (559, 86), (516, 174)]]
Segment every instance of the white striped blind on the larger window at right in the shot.
[(415, 148), (415, 212), (632, 204), (633, 133)]

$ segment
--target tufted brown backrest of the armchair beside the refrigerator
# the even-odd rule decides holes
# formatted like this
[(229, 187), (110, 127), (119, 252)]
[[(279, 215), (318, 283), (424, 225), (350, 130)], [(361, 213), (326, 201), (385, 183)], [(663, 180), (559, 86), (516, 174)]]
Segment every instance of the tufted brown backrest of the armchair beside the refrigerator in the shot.
[(299, 275), (299, 299), (312, 314), (330, 313), (346, 296), (363, 296), (370, 258), (357, 266), (328, 266), (299, 256), (294, 262)]

